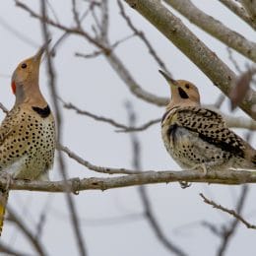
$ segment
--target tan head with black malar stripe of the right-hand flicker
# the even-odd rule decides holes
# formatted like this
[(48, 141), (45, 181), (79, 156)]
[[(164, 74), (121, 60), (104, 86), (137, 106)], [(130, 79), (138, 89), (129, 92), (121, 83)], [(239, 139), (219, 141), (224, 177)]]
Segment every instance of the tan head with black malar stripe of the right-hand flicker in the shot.
[(170, 104), (176, 105), (199, 105), (200, 95), (198, 89), (192, 83), (185, 80), (174, 80), (160, 70), (160, 74), (166, 79), (170, 86)]

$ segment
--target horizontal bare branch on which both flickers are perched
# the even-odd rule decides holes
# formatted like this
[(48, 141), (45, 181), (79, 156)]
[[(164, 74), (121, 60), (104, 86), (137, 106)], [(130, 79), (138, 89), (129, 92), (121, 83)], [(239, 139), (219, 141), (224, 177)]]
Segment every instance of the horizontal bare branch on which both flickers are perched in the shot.
[[(112, 170), (112, 168), (109, 168)], [(141, 170), (131, 170), (141, 171)], [(256, 173), (246, 170), (211, 171), (207, 175), (202, 172), (183, 171), (154, 171), (146, 170), (140, 174), (130, 174), (108, 178), (72, 178), (64, 181), (24, 181), (13, 180), (10, 190), (31, 190), (41, 192), (69, 192), (77, 193), (83, 190), (106, 190), (145, 184), (170, 183), (177, 181), (237, 185), (256, 183)], [(0, 178), (0, 186), (6, 186), (6, 180)]]

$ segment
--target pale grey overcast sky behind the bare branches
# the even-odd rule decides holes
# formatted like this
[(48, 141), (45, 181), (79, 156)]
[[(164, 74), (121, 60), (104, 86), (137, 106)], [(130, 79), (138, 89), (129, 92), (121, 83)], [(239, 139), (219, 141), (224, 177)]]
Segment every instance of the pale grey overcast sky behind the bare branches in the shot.
[[(25, 1), (37, 11), (37, 2)], [(71, 6), (68, 0), (50, 1), (59, 20), (67, 26), (72, 24)], [(53, 3), (54, 2), (54, 3)], [(110, 1), (110, 38), (114, 42), (131, 32), (119, 16), (116, 1)], [(255, 40), (255, 33), (234, 15), (231, 15), (219, 1), (193, 1), (208, 14), (220, 19), (230, 29)], [(85, 3), (81, 1), (83, 10)], [(125, 7), (127, 7), (125, 5)], [(175, 79), (185, 79), (196, 84), (203, 103), (213, 103), (220, 91), (212, 82), (175, 48), (160, 32), (133, 10), (127, 12), (134, 24), (146, 32), (160, 57)], [(89, 20), (90, 21), (90, 20)], [(200, 31), (182, 18), (232, 70), (224, 44)], [(17, 36), (17, 32), (21, 33)], [(62, 32), (51, 30), (55, 42)], [(17, 64), (32, 56), (42, 42), (40, 25), (27, 13), (15, 6), (14, 1), (2, 1), (0, 8), (0, 101), (8, 108), (14, 104), (11, 93), (10, 76)], [(22, 36), (21, 36), (22, 35)], [(26, 39), (25, 39), (26, 38)], [(138, 124), (160, 117), (164, 108), (149, 104), (132, 96), (103, 57), (81, 59), (75, 52), (90, 53), (94, 50), (87, 41), (78, 36), (70, 36), (58, 48), (54, 58), (59, 95), (66, 101), (75, 103), (82, 109), (127, 123), (124, 102), (130, 100), (138, 112)], [(169, 96), (168, 86), (160, 77), (158, 65), (149, 56), (148, 50), (139, 39), (130, 39), (116, 49), (116, 53), (126, 63), (130, 72), (142, 87), (158, 96)], [(244, 58), (234, 53), (241, 67)], [(50, 98), (45, 64), (42, 64), (40, 88), (46, 98)], [(51, 102), (50, 102), (51, 103)], [(227, 112), (228, 101), (223, 109)], [(85, 160), (102, 166), (131, 167), (132, 152), (128, 134), (116, 133), (108, 124), (79, 116), (73, 111), (64, 110), (64, 142)], [(241, 111), (235, 111), (237, 116)], [(1, 113), (1, 118), (4, 115)], [(243, 135), (244, 131), (239, 131)], [(143, 169), (179, 169), (178, 165), (165, 152), (160, 138), (160, 125), (138, 133), (142, 146)], [(252, 144), (255, 143), (252, 142)], [(74, 160), (66, 159), (69, 177), (99, 176)], [(102, 176), (102, 175), (100, 175)], [(52, 180), (61, 178), (57, 164), (51, 172)], [(250, 186), (243, 216), (256, 223), (255, 186)], [(154, 206), (160, 225), (167, 237), (183, 248), (189, 255), (215, 255), (220, 241), (199, 222), (209, 221), (224, 224), (231, 221), (229, 216), (204, 204), (199, 197), (203, 192), (218, 203), (233, 208), (239, 195), (240, 186), (193, 184), (182, 190), (178, 184), (148, 186), (150, 200)], [(141, 217), (143, 208), (136, 187), (114, 189), (105, 192), (81, 192), (75, 198), (84, 239), (89, 255), (170, 255), (157, 240), (155, 233)], [(40, 213), (47, 207), (46, 224), (43, 227), (42, 243), (49, 255), (78, 255), (77, 244), (69, 219), (69, 211), (63, 194), (49, 195), (24, 191), (12, 191), (10, 204), (34, 230)], [(226, 255), (255, 255), (254, 230), (240, 226), (232, 239)], [(6, 223), (3, 241), (24, 252), (32, 252), (31, 245), (20, 235), (13, 224)]]

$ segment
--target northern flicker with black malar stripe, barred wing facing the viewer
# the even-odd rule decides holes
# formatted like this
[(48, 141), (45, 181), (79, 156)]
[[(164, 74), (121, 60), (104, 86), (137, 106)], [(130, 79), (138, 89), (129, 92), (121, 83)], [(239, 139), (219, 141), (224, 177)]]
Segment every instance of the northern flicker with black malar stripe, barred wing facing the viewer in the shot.
[(209, 170), (256, 168), (256, 151), (229, 130), (222, 115), (200, 105), (195, 85), (160, 71), (171, 98), (161, 120), (164, 146), (182, 168)]

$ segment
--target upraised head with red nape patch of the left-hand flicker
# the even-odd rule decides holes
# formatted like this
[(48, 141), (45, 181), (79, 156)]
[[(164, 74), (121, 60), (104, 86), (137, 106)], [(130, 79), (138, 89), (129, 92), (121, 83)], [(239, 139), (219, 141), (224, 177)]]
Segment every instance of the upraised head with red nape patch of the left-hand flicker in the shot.
[(12, 76), (12, 91), (16, 96), (16, 102), (20, 103), (26, 100), (29, 95), (32, 96), (32, 93), (35, 93), (34, 96), (36, 96), (36, 91), (39, 92), (40, 61), (48, 43), (49, 41), (44, 43), (35, 55), (23, 60), (15, 69)]

